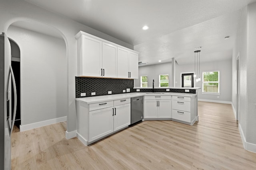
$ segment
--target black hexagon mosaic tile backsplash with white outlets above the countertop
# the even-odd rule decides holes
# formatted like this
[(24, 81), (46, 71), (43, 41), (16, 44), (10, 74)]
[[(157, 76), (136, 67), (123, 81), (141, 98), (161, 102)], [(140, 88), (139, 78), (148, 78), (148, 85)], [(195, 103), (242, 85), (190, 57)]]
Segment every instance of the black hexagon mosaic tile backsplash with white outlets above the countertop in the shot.
[[(126, 88), (130, 88), (130, 92), (136, 92), (134, 80), (128, 79), (113, 79), (113, 78), (88, 78), (76, 77), (76, 98), (91, 97), (91, 92), (96, 92), (94, 96), (108, 95), (108, 91), (112, 94), (121, 94)], [(172, 93), (191, 93), (196, 94), (196, 90), (190, 89), (190, 92), (185, 92), (185, 89), (172, 89)], [(153, 92), (153, 89), (140, 89), (140, 92)], [(166, 89), (154, 89), (154, 92), (166, 92)], [(86, 93), (86, 96), (80, 96), (80, 93)]]

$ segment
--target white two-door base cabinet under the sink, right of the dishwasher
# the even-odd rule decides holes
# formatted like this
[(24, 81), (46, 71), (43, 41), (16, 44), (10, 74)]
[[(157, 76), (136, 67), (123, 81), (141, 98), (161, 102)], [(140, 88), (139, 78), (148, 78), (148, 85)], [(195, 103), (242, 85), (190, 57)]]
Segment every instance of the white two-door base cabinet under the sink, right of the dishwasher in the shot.
[[(164, 99), (164, 100), (163, 100)], [(171, 118), (172, 117), (171, 96), (145, 96), (144, 118)]]

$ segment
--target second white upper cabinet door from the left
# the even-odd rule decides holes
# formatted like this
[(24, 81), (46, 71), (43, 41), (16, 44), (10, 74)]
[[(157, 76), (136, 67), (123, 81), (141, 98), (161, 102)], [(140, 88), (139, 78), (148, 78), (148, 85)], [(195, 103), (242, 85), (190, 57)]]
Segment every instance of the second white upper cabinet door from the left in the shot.
[(102, 69), (104, 77), (117, 77), (117, 47), (102, 43)]

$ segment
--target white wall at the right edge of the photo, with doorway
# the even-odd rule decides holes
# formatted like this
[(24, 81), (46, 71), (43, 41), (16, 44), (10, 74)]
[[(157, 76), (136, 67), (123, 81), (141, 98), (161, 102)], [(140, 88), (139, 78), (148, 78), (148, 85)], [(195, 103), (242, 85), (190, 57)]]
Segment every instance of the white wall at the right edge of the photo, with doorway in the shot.
[(232, 103), (236, 109), (236, 59), (240, 59), (239, 129), (244, 148), (256, 152), (256, 3), (242, 10), (232, 56)]

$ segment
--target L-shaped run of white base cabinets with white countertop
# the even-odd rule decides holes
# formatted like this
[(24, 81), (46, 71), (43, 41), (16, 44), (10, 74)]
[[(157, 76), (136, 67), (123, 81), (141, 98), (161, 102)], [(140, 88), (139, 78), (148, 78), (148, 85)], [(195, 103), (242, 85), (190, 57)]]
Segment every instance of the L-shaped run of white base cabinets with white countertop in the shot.
[[(196, 93), (170, 92), (173, 88), (160, 89), (165, 92), (132, 92), (76, 98), (78, 139), (84, 145), (90, 145), (127, 128), (130, 125), (130, 99), (137, 96), (144, 96), (143, 121), (172, 120), (189, 125), (198, 121)], [(199, 88), (190, 89), (197, 91)]]

